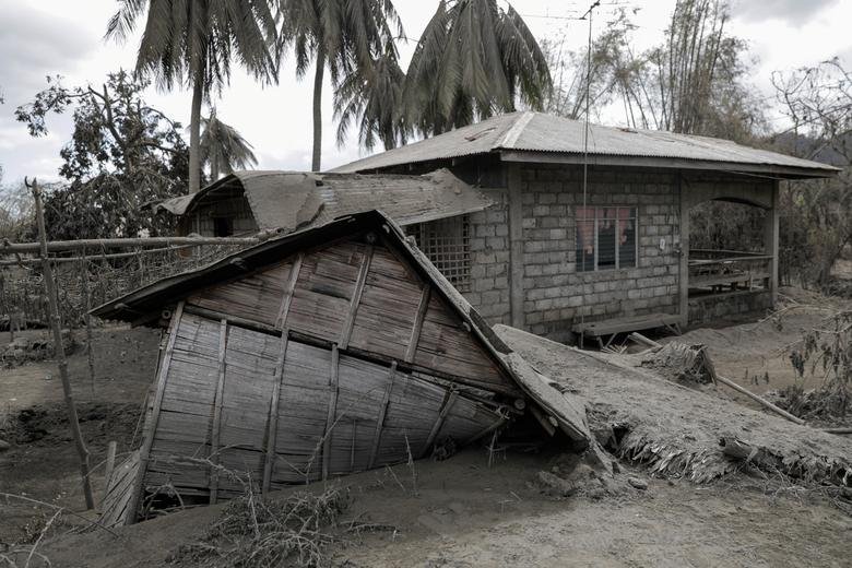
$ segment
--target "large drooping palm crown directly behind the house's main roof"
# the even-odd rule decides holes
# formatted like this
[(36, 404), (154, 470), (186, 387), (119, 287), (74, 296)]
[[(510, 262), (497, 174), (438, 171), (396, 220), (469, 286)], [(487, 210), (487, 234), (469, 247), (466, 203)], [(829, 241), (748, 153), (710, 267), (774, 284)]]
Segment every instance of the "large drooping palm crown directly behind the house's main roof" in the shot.
[(497, 0), (441, 0), (412, 56), (406, 115), (424, 135), (496, 113), (544, 107), (547, 60), (523, 19)]

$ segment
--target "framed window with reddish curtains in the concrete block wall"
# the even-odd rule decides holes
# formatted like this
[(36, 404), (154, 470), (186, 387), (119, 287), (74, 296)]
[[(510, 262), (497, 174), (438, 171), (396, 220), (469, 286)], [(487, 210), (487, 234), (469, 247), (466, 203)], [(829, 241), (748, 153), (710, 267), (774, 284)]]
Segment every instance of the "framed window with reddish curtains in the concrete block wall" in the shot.
[(637, 233), (636, 208), (577, 208), (577, 271), (636, 267)]

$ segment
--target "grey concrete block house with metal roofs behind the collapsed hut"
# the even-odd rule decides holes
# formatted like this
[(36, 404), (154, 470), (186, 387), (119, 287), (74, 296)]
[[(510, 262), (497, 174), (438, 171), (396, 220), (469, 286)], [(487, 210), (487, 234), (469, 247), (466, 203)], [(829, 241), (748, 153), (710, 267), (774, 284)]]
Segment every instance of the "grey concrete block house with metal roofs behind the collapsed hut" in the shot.
[[(773, 305), (780, 184), (837, 168), (725, 140), (601, 126), (590, 126), (587, 152), (584, 130), (513, 113), (327, 174), (237, 173), (157, 206), (211, 235), (237, 225), (293, 230), (380, 209), (488, 322), (563, 342), (604, 344), (617, 332), (677, 330)], [(246, 218), (222, 218), (227, 199), (241, 205), (226, 213)], [(764, 210), (762, 250), (690, 248), (689, 212), (709, 200)]]

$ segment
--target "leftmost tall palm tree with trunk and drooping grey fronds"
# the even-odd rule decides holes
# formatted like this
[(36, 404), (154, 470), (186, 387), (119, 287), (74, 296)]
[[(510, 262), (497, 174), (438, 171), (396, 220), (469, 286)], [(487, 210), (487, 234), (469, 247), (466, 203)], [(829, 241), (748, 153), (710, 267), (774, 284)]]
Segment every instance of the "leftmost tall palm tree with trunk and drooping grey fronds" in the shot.
[(276, 17), (267, 0), (119, 0), (107, 37), (126, 38), (147, 13), (137, 73), (153, 75), (161, 88), (192, 87), (189, 191), (201, 186), (201, 104), (230, 79), (233, 57), (263, 81), (276, 78), (271, 55)]

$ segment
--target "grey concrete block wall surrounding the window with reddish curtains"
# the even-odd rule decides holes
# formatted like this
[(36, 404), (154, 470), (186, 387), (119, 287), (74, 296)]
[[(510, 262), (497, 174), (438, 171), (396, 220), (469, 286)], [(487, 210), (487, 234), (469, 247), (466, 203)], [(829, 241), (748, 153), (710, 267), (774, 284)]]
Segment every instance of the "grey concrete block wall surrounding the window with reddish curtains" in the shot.
[(677, 311), (676, 174), (590, 169), (587, 204), (635, 206), (639, 229), (636, 268), (595, 272), (578, 272), (576, 263), (576, 209), (583, 203), (581, 167), (524, 165), (521, 182), (529, 331), (567, 341), (581, 315), (592, 321)]

